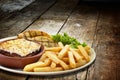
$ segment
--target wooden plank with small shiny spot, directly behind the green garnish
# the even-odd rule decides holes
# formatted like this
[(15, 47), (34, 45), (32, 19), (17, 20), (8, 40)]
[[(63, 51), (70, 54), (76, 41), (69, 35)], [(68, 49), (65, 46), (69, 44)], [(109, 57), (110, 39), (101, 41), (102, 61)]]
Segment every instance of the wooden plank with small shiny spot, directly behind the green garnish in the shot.
[[(68, 33), (70, 36), (77, 38), (80, 42), (86, 42), (92, 45), (96, 23), (98, 19), (98, 10), (95, 7), (77, 6), (60, 33)], [(85, 80), (87, 68), (79, 71), (76, 75), (77, 80)]]

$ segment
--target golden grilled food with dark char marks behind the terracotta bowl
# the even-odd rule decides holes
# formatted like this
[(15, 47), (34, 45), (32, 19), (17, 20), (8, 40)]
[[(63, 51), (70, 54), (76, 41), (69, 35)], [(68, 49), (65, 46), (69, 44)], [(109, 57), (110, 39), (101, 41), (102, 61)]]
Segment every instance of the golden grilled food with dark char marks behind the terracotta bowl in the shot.
[(42, 43), (45, 47), (55, 47), (58, 44), (52, 39), (51, 35), (40, 30), (28, 30), (18, 34), (18, 38), (25, 38), (31, 41)]

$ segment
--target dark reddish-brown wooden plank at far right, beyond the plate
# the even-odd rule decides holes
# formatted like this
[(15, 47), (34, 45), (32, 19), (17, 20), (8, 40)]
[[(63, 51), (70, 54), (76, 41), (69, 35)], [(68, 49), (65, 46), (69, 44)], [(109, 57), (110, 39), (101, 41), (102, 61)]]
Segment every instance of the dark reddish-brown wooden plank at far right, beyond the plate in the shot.
[(97, 58), (95, 65), (89, 69), (87, 80), (119, 80), (120, 48), (120, 11), (101, 9), (93, 47)]

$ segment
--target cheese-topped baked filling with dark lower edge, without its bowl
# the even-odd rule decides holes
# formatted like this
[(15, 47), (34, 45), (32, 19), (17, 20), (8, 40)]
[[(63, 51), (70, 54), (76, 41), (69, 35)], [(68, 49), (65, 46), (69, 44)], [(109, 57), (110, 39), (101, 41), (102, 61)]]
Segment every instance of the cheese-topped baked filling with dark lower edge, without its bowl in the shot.
[(11, 57), (32, 56), (40, 52), (41, 44), (21, 39), (11, 39), (0, 43), (0, 54)]

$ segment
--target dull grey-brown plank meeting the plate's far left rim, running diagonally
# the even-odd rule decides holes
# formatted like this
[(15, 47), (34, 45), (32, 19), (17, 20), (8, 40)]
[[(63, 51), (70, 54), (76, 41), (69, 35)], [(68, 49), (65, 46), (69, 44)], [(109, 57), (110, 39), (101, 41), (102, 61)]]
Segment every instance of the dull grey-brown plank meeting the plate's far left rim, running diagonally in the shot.
[(11, 17), (0, 21), (0, 38), (14, 36), (20, 33), (54, 3), (55, 0), (36, 0), (25, 9), (22, 9)]

